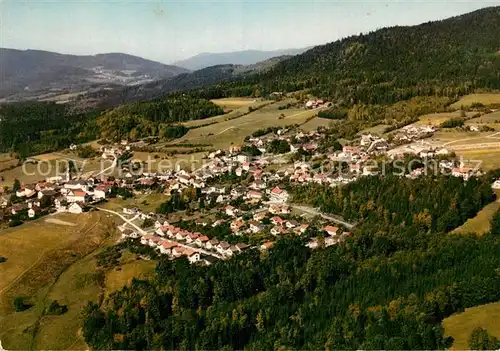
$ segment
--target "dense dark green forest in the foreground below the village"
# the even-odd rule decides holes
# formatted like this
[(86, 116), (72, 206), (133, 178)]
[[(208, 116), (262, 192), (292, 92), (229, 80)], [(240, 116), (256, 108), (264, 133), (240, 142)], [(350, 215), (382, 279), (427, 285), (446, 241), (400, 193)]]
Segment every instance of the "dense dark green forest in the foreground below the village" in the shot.
[(90, 303), (83, 335), (95, 349), (448, 348), (445, 317), (500, 299), (500, 237), (497, 225), (476, 237), (442, 223), (460, 225), (492, 201), (498, 176), (293, 190), (359, 221), (353, 235), (313, 251), (283, 237), (208, 267), (160, 260), (154, 279)]

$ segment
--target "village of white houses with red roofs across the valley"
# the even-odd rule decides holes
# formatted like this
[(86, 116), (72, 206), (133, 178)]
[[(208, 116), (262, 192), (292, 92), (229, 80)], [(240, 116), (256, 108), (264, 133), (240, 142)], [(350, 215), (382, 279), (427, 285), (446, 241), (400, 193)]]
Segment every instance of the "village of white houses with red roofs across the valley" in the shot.
[[(283, 235), (305, 236), (311, 249), (326, 247), (348, 237), (354, 224), (294, 204), (290, 187), (310, 183), (342, 186), (360, 177), (379, 175), (382, 170), (375, 160), (381, 156), (395, 160), (408, 154), (437, 159), (441, 172), (465, 180), (480, 174), (447, 157), (448, 150), (422, 142), (434, 131), (434, 127), (409, 126), (391, 141), (364, 133), (355, 143), (333, 150), (321, 146), (325, 131), (278, 128), (249, 136), (244, 145), (207, 154), (198, 169), (177, 167), (163, 172), (127, 171), (131, 163), (118, 164), (124, 155), (133, 153), (133, 147), (124, 141), (100, 151), (103, 159), (113, 160), (112, 167), (125, 174), (108, 177), (101, 172), (75, 178), (67, 171), (62, 177), (17, 184), (10, 199), (5, 195), (1, 198), (0, 220), (14, 226), (60, 212), (107, 211), (123, 220), (118, 226), (122, 240), (135, 240), (170, 259), (184, 256), (190, 263), (205, 265), (249, 249), (267, 250)], [(423, 167), (418, 167), (401, 175), (415, 178), (424, 173)], [(102, 206), (114, 198), (153, 192), (165, 199), (156, 212)], [(170, 223), (169, 215), (179, 211), (195, 214), (196, 219)], [(322, 238), (307, 235), (313, 218), (317, 219), (313, 232), (322, 232)], [(222, 237), (227, 239), (219, 240)]]

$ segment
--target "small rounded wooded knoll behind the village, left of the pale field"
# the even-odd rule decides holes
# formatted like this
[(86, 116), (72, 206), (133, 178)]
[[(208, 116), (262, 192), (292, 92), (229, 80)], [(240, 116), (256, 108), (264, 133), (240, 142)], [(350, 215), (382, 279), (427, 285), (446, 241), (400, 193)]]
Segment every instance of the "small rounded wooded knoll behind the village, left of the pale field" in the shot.
[(137, 140), (149, 136), (174, 139), (181, 137), (188, 130), (179, 123), (223, 113), (221, 107), (205, 99), (172, 95), (153, 101), (122, 105), (105, 113), (98, 122), (102, 137), (111, 140)]

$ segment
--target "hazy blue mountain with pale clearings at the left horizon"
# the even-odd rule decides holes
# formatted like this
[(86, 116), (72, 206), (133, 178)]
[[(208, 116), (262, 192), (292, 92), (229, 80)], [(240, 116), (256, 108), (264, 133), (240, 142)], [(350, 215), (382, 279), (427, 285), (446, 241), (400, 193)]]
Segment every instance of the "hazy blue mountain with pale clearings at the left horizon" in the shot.
[(127, 86), (186, 72), (185, 68), (121, 53), (77, 56), (0, 48), (0, 98)]

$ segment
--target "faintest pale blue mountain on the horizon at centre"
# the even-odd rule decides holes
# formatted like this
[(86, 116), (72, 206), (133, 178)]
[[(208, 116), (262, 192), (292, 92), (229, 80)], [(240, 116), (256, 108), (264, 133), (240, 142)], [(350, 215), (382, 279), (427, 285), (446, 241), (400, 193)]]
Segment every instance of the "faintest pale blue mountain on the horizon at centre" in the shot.
[(192, 71), (217, 65), (253, 65), (276, 56), (298, 55), (308, 49), (309, 48), (275, 51), (244, 50), (224, 53), (202, 53), (188, 59), (175, 62), (174, 64)]

